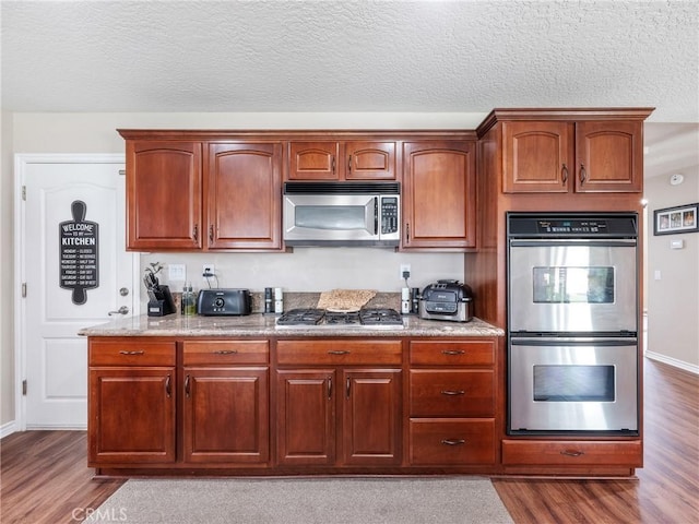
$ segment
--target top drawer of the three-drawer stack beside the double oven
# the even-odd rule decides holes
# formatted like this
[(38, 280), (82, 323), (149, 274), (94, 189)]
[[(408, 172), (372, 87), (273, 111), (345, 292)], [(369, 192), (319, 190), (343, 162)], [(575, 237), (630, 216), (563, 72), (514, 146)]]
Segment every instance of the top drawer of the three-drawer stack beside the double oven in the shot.
[(411, 364), (417, 366), (493, 366), (493, 341), (413, 341)]

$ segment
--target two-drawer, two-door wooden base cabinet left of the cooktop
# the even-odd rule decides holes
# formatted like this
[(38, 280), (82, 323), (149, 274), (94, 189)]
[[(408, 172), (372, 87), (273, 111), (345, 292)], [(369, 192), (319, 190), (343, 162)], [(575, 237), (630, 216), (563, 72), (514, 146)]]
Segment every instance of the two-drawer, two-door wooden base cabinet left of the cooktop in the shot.
[(91, 467), (269, 463), (269, 341), (181, 346), (178, 371), (176, 342), (90, 341)]

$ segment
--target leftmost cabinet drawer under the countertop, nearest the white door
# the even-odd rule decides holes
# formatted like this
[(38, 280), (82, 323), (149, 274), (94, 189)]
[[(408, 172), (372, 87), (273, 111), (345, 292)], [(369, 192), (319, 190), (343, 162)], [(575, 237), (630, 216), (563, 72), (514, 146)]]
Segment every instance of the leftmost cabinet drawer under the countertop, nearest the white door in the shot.
[(90, 366), (175, 366), (174, 342), (90, 341)]

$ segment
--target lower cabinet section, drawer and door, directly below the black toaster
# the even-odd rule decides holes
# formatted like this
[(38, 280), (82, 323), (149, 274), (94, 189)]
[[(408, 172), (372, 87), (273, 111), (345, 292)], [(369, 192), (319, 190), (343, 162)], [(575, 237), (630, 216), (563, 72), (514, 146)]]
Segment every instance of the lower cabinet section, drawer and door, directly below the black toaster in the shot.
[(183, 462), (269, 462), (268, 361), (268, 341), (183, 343)]

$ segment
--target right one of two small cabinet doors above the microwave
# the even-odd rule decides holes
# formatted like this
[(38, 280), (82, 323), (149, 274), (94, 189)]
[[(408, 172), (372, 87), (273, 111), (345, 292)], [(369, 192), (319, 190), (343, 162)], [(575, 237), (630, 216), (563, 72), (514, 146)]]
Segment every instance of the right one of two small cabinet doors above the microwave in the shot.
[(394, 180), (395, 142), (347, 142), (347, 180)]

